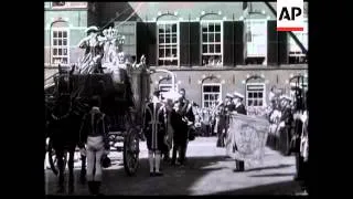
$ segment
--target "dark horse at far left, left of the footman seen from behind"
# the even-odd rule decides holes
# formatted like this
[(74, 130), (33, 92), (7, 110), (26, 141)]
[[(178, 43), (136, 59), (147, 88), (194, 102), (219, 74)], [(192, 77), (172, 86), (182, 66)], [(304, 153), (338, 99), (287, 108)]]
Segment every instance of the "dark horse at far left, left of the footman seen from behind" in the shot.
[[(55, 102), (47, 123), (49, 137), (55, 150), (58, 167), (58, 190), (64, 192), (64, 171), (66, 153), (68, 153), (68, 192), (74, 191), (74, 154), (79, 140), (79, 127), (85, 106), (69, 95), (60, 95)], [(84, 184), (86, 175), (86, 157), (82, 156), (81, 182)]]

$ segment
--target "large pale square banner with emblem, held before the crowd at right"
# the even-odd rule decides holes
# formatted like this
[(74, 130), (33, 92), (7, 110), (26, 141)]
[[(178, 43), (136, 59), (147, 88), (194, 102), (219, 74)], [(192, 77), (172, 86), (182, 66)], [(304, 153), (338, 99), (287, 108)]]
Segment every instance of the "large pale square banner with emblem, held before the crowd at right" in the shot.
[(266, 118), (235, 114), (229, 116), (226, 135), (227, 156), (246, 164), (261, 164), (268, 136)]

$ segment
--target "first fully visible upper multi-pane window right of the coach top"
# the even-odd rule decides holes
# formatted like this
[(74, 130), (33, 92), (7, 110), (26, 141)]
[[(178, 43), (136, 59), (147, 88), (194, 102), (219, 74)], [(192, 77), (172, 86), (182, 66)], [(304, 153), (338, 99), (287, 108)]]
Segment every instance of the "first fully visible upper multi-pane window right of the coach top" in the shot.
[(158, 65), (178, 65), (178, 22), (158, 23)]

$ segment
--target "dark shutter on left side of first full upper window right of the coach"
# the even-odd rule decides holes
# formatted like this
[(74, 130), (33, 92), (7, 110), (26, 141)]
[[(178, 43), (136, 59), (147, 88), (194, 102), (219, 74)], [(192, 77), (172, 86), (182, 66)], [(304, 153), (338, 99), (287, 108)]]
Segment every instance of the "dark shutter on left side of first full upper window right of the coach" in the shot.
[(147, 38), (148, 38), (148, 55), (146, 62), (148, 65), (157, 65), (157, 23), (147, 23)]

